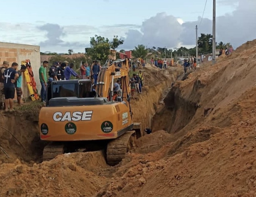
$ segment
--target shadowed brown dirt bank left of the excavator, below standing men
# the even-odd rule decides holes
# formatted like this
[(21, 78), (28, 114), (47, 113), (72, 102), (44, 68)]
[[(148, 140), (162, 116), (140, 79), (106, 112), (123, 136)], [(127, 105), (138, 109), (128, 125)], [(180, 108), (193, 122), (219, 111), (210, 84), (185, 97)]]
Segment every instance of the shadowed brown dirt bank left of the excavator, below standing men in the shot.
[(38, 162), (42, 142), (38, 134), (40, 103), (19, 108), (13, 112), (0, 113), (0, 163), (12, 163), (19, 158), (23, 163)]

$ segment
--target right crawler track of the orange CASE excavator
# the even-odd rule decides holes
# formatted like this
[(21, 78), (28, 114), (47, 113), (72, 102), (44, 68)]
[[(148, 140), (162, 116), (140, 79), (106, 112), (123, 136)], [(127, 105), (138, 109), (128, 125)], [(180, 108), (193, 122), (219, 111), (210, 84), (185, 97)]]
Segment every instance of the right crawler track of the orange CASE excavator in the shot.
[(125, 154), (134, 146), (135, 139), (135, 131), (128, 131), (119, 138), (110, 141), (107, 146), (107, 163), (114, 166), (121, 162)]

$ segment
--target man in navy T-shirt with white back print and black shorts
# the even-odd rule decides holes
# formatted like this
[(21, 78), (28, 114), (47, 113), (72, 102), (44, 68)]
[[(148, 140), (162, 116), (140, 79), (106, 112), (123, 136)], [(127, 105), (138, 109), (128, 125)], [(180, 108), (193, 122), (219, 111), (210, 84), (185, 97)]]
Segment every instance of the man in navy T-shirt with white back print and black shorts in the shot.
[(4, 71), (4, 95), (5, 95), (5, 110), (8, 110), (8, 106), (10, 110), (13, 110), (13, 99), (15, 97), (15, 82), (19, 77), (17, 73), (18, 64), (13, 62), (11, 64), (11, 68), (7, 68)]

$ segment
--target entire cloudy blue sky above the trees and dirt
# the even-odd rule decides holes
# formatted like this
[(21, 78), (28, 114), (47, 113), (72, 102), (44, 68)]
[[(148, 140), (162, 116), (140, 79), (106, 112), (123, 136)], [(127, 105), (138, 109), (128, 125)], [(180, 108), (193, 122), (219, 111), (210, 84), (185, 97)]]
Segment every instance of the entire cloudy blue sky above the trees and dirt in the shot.
[[(39, 45), (41, 52), (75, 53), (90, 38), (123, 38), (118, 50), (194, 47), (198, 36), (212, 34), (213, 0), (8, 0), (1, 5), (0, 42)], [(204, 15), (203, 10), (205, 7)], [(216, 42), (234, 48), (256, 38), (255, 0), (216, 0)], [(203, 18), (202, 18), (203, 16)]]

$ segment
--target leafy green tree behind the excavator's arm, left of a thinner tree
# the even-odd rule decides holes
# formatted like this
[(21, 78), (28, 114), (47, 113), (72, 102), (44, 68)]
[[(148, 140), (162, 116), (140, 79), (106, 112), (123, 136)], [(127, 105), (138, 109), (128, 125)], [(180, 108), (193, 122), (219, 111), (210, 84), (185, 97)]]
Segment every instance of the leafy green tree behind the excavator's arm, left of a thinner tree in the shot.
[(87, 54), (96, 60), (101, 60), (104, 63), (109, 58), (110, 54), (110, 42), (109, 38), (95, 35), (90, 39), (91, 48), (87, 48)]

